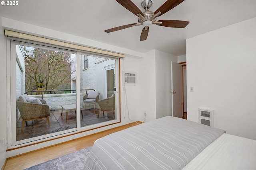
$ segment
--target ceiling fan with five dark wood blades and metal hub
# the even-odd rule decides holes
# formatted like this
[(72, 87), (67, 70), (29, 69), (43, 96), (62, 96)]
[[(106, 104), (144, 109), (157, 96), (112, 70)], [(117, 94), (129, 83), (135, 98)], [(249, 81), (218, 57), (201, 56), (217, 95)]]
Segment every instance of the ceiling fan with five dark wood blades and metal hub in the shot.
[(110, 33), (113, 31), (118, 31), (120, 29), (129, 28), (132, 26), (143, 25), (140, 35), (140, 41), (144, 41), (148, 37), (149, 26), (152, 24), (164, 26), (164, 27), (174, 27), (174, 28), (184, 28), (188, 25), (189, 21), (180, 21), (180, 20), (158, 20), (156, 18), (158, 16), (163, 15), (168, 12), (178, 4), (182, 3), (184, 0), (167, 0), (162, 6), (160, 6), (155, 12), (149, 11), (148, 9), (152, 6), (151, 0), (143, 0), (141, 5), (144, 7), (145, 12), (142, 12), (131, 0), (116, 0), (119, 4), (121, 4), (124, 8), (138, 16), (138, 24), (131, 23), (127, 25), (122, 25), (119, 27), (114, 27), (111, 29), (105, 30), (105, 32)]

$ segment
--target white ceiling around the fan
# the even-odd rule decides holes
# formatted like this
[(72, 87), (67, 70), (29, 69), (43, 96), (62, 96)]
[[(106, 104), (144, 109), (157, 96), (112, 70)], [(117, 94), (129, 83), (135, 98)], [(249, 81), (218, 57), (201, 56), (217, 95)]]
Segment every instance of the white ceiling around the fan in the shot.
[[(166, 0), (152, 0), (155, 11)], [(142, 0), (132, 0), (144, 12)], [(0, 6), (0, 16), (78, 35), (94, 41), (147, 52), (158, 49), (186, 54), (186, 39), (256, 17), (256, 0), (185, 0), (157, 20), (190, 21), (185, 28), (150, 26), (140, 42), (142, 26), (112, 33), (104, 30), (138, 23), (138, 17), (115, 0), (20, 0), (18, 6)]]

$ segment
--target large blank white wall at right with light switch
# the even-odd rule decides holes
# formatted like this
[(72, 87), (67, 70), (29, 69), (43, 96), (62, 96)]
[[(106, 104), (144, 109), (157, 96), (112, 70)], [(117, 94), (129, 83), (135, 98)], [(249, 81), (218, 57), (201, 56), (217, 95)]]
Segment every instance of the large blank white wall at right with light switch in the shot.
[(188, 120), (214, 109), (215, 127), (256, 139), (255, 30), (253, 18), (187, 39)]

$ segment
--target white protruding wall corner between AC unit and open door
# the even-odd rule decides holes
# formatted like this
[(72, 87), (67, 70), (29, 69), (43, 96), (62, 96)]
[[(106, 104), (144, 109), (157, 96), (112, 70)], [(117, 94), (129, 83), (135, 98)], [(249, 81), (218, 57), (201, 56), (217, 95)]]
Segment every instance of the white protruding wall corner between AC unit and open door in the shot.
[(171, 61), (177, 56), (152, 50), (139, 59), (139, 114), (151, 121), (171, 115)]

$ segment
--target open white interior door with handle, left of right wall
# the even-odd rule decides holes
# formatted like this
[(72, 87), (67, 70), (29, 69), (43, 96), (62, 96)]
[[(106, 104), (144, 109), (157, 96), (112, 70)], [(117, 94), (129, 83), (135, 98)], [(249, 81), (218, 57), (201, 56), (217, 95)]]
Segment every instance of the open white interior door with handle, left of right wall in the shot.
[(182, 117), (182, 66), (172, 62), (172, 116)]

